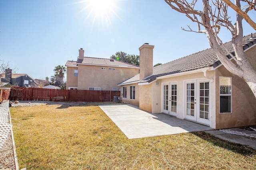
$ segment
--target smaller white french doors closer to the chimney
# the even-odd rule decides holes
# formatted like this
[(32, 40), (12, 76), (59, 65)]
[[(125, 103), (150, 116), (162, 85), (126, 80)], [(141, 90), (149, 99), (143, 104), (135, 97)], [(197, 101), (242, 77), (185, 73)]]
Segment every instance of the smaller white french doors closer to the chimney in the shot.
[(162, 112), (177, 115), (177, 84), (164, 83), (162, 86)]

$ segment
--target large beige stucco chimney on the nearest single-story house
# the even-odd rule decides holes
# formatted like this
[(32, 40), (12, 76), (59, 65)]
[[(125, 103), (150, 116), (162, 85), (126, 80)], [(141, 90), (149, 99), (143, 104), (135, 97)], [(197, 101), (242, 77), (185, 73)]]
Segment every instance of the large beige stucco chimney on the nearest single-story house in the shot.
[(140, 80), (153, 74), (154, 45), (144, 43), (140, 48)]

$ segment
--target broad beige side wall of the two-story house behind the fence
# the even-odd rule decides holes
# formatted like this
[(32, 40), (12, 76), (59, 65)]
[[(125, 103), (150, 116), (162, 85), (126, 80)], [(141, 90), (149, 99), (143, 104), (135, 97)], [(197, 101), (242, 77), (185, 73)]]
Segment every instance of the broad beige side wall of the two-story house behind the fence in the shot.
[[(106, 70), (102, 70), (104, 67)], [(116, 68), (116, 70), (108, 70)], [(89, 87), (100, 87), (101, 90), (113, 90), (118, 83), (138, 74), (138, 68), (111, 66), (78, 65), (78, 90), (89, 90)]]

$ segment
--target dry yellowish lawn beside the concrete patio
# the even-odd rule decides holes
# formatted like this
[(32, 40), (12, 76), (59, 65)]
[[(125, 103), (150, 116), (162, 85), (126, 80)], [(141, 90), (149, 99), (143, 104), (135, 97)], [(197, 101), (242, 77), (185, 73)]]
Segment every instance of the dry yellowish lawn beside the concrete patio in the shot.
[(93, 103), (11, 107), (10, 113), (19, 168), (256, 169), (256, 150), (203, 132), (127, 139)]

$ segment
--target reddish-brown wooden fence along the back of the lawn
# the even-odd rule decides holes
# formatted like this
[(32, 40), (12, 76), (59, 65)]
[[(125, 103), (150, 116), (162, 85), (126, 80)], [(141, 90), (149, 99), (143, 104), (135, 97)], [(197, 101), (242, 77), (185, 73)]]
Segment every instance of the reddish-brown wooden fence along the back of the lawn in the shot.
[(113, 102), (120, 91), (63, 90), (47, 88), (12, 87), (9, 100), (38, 100), (54, 102)]

